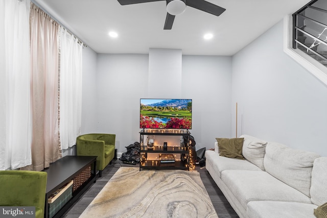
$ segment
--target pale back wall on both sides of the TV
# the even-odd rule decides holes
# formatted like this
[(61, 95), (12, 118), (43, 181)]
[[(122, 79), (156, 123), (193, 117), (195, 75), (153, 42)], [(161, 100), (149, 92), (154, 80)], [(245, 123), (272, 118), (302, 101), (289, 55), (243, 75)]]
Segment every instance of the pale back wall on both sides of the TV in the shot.
[[(139, 141), (139, 99), (162, 97), (155, 89), (148, 93), (148, 80), (148, 55), (98, 54), (97, 131), (115, 133), (119, 152)], [(231, 57), (182, 56), (181, 83), (177, 98), (193, 99), (196, 149), (213, 148), (215, 137), (230, 137)]]

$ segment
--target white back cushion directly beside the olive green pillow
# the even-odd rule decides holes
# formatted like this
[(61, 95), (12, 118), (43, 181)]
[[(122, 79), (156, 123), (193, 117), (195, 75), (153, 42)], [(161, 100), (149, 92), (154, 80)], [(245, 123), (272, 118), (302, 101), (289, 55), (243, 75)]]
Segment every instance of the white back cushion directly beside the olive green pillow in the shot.
[(250, 135), (241, 135), (240, 137), (244, 138), (242, 148), (243, 157), (264, 171), (264, 157), (266, 154), (267, 141)]

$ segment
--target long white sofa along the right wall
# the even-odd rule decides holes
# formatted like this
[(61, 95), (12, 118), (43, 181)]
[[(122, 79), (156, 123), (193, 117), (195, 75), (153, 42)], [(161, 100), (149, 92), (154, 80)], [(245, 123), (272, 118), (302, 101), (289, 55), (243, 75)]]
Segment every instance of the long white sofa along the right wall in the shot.
[(315, 218), (327, 202), (327, 157), (242, 135), (242, 159), (205, 152), (206, 169), (243, 218)]

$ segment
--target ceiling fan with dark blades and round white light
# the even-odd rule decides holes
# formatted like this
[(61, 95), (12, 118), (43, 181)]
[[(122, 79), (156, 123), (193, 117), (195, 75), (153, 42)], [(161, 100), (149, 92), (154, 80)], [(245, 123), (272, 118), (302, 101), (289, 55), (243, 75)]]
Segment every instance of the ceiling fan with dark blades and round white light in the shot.
[(164, 30), (172, 29), (175, 16), (183, 13), (186, 9), (186, 6), (190, 6), (192, 8), (196, 8), (216, 16), (219, 16), (226, 10), (204, 0), (118, 0), (121, 5), (132, 5), (159, 1), (166, 1), (167, 3), (167, 16)]

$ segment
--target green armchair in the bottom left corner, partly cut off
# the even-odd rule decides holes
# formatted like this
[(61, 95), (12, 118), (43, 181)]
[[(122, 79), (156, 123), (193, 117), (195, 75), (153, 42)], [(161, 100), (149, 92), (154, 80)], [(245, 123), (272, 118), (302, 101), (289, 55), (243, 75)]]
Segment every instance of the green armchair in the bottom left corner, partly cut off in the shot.
[(36, 171), (0, 171), (0, 206), (35, 207), (35, 217), (44, 217), (46, 178)]

